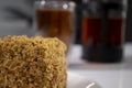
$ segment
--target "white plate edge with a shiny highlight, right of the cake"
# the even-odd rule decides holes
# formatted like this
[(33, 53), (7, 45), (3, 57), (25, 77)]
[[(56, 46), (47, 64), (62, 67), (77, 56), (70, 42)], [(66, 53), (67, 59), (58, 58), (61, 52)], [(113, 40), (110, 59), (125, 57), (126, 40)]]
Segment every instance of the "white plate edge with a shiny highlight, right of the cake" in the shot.
[(68, 73), (67, 88), (101, 88), (97, 82), (88, 80), (87, 78)]

